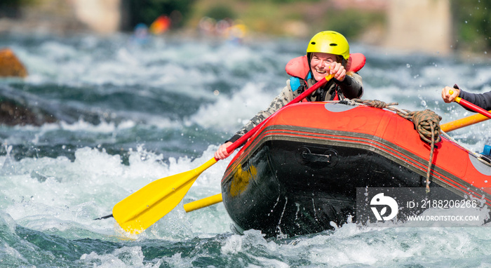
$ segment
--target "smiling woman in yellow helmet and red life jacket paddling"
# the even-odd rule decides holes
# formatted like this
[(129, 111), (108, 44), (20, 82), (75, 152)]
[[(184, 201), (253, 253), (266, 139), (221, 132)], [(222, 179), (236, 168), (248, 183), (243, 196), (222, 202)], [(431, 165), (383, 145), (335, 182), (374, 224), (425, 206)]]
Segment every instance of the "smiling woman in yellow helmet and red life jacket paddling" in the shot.
[(334, 79), (307, 97), (307, 101), (352, 99), (360, 98), (363, 95), (361, 76), (354, 72), (347, 72), (350, 59), (349, 44), (342, 34), (334, 31), (319, 32), (309, 41), (307, 57), (303, 57), (303, 59), (307, 62), (295, 62), (287, 65), (286, 71), (292, 77), (287, 81), (280, 95), (274, 98), (267, 109), (257, 113), (234, 136), (221, 145), (215, 152), (216, 159), (224, 159), (229, 156), (227, 147), (232, 142), (241, 138), (258, 123), (300, 95), (306, 88), (313, 86), (314, 83), (324, 79), (329, 74), (334, 74)]

